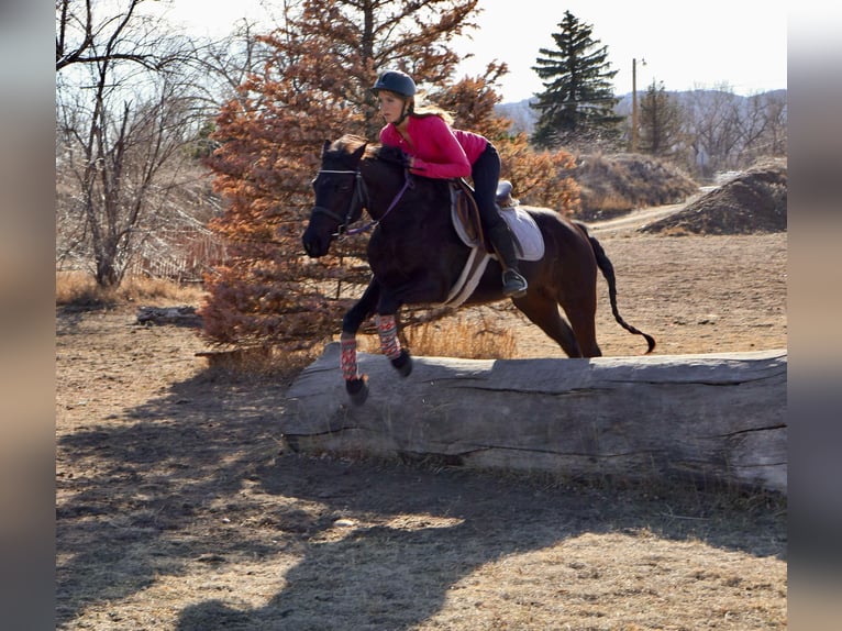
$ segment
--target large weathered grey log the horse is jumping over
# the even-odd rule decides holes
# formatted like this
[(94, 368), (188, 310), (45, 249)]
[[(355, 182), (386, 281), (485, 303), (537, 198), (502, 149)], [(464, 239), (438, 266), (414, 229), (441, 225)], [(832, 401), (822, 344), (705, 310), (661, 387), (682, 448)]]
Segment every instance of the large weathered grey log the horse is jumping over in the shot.
[(339, 344), (288, 391), (288, 444), (308, 453), (629, 480), (689, 477), (786, 491), (785, 350), (592, 359), (414, 357), (400, 378), (361, 353), (351, 403)]

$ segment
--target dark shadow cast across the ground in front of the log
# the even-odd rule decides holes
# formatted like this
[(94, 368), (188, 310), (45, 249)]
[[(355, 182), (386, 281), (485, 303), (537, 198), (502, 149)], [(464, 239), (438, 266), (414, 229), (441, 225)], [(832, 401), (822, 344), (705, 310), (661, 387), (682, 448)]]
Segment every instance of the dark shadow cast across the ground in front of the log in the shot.
[(58, 626), (196, 563), (281, 553), (300, 561), (265, 607), (206, 599), (177, 628), (410, 629), (484, 564), (583, 533), (785, 554), (768, 496), (299, 456), (277, 429), (285, 391), (209, 370), (59, 442), (79, 473), (59, 479), (76, 492), (57, 509)]

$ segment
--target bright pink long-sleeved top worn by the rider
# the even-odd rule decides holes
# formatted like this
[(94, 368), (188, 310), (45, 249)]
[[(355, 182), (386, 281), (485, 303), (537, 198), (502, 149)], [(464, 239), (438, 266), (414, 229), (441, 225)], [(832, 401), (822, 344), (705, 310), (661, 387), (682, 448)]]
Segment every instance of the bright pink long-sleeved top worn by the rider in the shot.
[(413, 156), (416, 175), (439, 179), (469, 177), (470, 165), (488, 146), (479, 134), (454, 130), (436, 115), (409, 117), (408, 121), (410, 142), (389, 123), (380, 130), (380, 143), (398, 146)]

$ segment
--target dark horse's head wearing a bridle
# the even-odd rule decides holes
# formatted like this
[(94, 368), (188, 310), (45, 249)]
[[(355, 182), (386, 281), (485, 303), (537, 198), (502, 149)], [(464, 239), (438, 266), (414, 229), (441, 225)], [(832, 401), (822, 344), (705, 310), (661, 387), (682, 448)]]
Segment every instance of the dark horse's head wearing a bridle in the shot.
[(313, 180), (315, 204), (302, 236), (304, 251), (313, 258), (328, 254), (333, 237), (363, 213), (366, 189), (359, 160), (365, 148), (365, 140), (350, 135), (324, 143), (321, 169)]

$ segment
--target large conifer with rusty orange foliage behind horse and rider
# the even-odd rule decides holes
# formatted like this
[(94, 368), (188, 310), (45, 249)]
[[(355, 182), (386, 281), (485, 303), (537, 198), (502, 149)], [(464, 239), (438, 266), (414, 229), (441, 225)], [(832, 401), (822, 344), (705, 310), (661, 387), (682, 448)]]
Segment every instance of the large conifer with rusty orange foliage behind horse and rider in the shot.
[[(270, 59), (221, 109), (214, 134), (219, 148), (208, 158), (214, 188), (226, 202), (212, 229), (225, 239), (230, 255), (206, 278), (201, 313), (209, 340), (291, 350), (312, 346), (339, 330), (342, 314), (369, 278), (363, 259), (366, 239), (334, 243), (332, 255), (318, 262), (304, 256), (310, 181), (325, 140), (355, 133), (376, 141), (383, 122), (368, 88), (384, 69), (402, 68), (419, 84), (445, 86), (431, 97), (454, 111), (457, 126), (486, 134), (503, 156), (508, 152), (522, 160), (512, 174), (558, 179), (549, 168), (557, 158), (531, 156), (525, 139), (520, 147), (521, 139), (506, 133), (508, 121), (494, 117), (499, 97), (490, 85), (505, 66), (492, 64), (485, 77), (448, 85), (459, 57), (447, 43), (474, 26), (469, 19), (476, 4), (285, 4), (284, 25), (261, 37), (273, 52)], [(533, 159), (547, 168), (528, 166)]]

